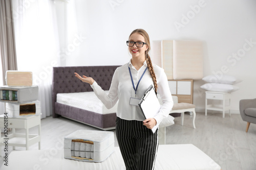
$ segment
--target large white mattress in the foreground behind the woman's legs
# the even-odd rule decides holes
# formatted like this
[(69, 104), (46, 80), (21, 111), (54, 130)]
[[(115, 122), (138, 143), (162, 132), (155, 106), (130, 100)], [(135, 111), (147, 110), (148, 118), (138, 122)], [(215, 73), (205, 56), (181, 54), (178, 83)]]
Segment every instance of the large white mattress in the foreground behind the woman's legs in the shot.
[[(103, 162), (81, 162), (63, 157), (63, 150), (12, 151), (8, 158), (8, 169), (90, 169), (90, 170), (123, 170), (124, 162), (120, 149)], [(221, 170), (221, 167), (193, 144), (159, 145), (156, 170)]]

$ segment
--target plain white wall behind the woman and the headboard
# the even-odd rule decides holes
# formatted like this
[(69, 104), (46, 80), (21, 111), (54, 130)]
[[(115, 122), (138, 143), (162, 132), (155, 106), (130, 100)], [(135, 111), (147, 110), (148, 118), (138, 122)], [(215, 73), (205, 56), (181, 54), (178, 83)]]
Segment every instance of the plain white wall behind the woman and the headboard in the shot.
[[(231, 110), (238, 113), (239, 100), (256, 98), (255, 6), (254, 0), (76, 0), (77, 34), (86, 38), (67, 57), (66, 66), (128, 62), (131, 57), (125, 41), (137, 28), (145, 29), (151, 41), (202, 40), (206, 43), (204, 76), (221, 76), (224, 66), (226, 75), (243, 80), (237, 84), (240, 90), (233, 92), (231, 99)], [(175, 26), (178, 22), (184, 23), (181, 28)], [(234, 58), (232, 54), (242, 57)], [(202, 111), (205, 94), (200, 86), (203, 84), (202, 80), (194, 82), (194, 104)]]

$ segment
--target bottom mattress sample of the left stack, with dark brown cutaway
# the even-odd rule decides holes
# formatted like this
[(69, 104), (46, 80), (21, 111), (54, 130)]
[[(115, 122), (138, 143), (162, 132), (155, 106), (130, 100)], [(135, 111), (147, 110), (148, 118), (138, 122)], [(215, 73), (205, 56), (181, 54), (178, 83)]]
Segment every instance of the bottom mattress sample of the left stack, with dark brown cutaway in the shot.
[(6, 103), (6, 112), (10, 117), (40, 115), (41, 107), (39, 101), (29, 103)]

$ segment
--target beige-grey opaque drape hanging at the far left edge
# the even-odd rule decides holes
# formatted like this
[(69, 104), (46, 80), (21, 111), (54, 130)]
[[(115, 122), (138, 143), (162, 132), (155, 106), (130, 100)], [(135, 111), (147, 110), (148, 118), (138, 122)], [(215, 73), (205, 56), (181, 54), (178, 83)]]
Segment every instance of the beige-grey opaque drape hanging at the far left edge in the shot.
[[(5, 72), (17, 70), (14, 26), (12, 19), (12, 1), (0, 1), (0, 56), (1, 56), (1, 80), (0, 86), (5, 85)], [(5, 112), (5, 103), (0, 102), (0, 114)]]

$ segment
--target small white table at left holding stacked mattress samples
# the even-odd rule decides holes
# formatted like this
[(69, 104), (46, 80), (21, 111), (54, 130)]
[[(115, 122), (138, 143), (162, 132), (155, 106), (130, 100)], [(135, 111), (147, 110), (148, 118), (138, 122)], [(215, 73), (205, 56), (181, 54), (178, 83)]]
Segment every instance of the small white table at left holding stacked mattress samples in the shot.
[[(38, 149), (40, 150), (40, 133), (41, 133), (41, 116), (32, 115), (32, 116), (21, 116), (21, 117), (8, 117), (6, 119), (5, 114), (0, 116), (0, 128), (9, 129), (12, 128), (12, 133), (9, 131), (7, 136), (0, 138), (0, 151), (2, 145), (6, 145), (4, 141), (8, 141), (8, 147), (26, 147), (26, 150), (29, 149), (29, 146), (38, 142)], [(8, 126), (6, 124), (8, 123)], [(38, 134), (29, 134), (29, 129), (32, 127), (38, 127)], [(25, 129), (25, 134), (15, 133), (15, 129)], [(6, 131), (5, 131), (6, 132)], [(1, 152), (0, 152), (1, 156)]]

